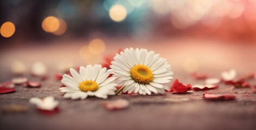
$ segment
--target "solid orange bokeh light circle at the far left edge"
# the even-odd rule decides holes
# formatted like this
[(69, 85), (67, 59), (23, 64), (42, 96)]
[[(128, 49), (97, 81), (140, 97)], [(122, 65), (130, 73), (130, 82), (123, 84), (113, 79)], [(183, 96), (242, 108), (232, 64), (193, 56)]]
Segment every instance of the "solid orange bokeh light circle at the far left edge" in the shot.
[(11, 37), (15, 32), (15, 25), (12, 22), (5, 22), (0, 28), (1, 35), (3, 37)]

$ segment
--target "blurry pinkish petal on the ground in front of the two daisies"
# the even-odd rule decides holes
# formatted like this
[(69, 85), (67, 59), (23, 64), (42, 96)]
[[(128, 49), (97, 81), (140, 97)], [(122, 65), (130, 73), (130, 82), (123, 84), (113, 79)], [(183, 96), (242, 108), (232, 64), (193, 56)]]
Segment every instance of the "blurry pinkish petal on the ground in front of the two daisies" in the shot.
[(120, 110), (127, 108), (129, 106), (129, 101), (124, 99), (117, 99), (114, 101), (105, 101), (102, 102), (102, 106), (110, 111)]

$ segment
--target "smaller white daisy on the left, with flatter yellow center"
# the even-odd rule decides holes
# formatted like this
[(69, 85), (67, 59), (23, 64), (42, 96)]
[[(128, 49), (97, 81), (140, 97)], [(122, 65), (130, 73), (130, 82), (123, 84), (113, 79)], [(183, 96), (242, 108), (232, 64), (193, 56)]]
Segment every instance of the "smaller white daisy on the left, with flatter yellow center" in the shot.
[(65, 93), (64, 98), (86, 99), (88, 96), (97, 96), (107, 99), (107, 95), (114, 95), (117, 84), (113, 81), (115, 77), (109, 77), (107, 68), (101, 65), (80, 67), (80, 74), (73, 68), (70, 73), (73, 76), (64, 74), (61, 82), (66, 86), (60, 88)]

